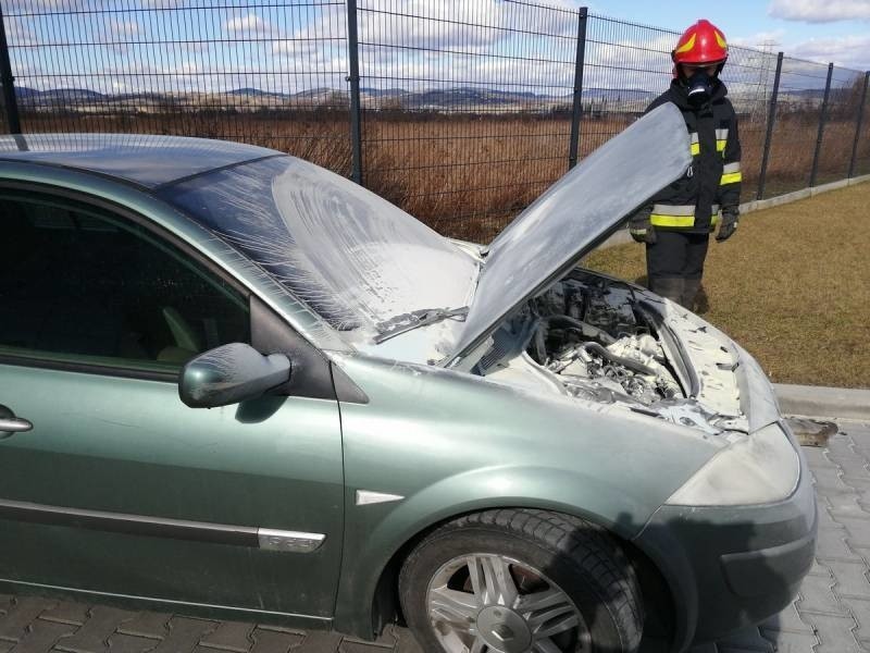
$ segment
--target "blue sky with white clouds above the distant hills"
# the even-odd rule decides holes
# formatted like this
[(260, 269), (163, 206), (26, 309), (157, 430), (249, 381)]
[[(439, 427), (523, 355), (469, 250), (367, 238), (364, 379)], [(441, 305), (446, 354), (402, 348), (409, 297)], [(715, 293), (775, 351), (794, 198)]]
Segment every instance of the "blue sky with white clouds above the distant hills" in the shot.
[[(870, 69), (870, 0), (358, 0), (363, 84), (420, 90), (482, 85), (564, 97), (573, 83), (576, 9), (681, 32), (699, 17), (733, 45)], [(4, 0), (17, 84), (277, 93), (346, 86), (340, 0)], [(591, 23), (585, 83), (652, 89), (670, 78), (675, 37)], [(744, 94), (770, 82), (771, 60), (733, 57)], [(824, 85), (816, 69), (790, 81)], [(823, 70), (823, 69), (822, 69)], [(850, 77), (843, 81), (850, 83)]]

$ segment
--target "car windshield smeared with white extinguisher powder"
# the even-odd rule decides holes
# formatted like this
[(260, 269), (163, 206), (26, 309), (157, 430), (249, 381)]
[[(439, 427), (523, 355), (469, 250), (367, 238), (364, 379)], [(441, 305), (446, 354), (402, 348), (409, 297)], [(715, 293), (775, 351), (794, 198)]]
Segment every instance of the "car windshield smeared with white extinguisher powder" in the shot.
[(300, 159), (216, 170), (160, 195), (341, 331), (370, 337), (400, 316), (471, 301), (471, 256), (375, 194)]

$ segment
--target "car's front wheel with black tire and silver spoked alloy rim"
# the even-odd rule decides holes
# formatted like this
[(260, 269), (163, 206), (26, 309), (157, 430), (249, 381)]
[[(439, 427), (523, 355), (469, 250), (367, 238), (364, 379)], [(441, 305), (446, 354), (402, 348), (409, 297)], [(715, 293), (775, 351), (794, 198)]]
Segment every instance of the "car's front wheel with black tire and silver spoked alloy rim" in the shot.
[(644, 624), (616, 539), (546, 510), (486, 510), (435, 529), (406, 558), (399, 601), (427, 653), (631, 653)]

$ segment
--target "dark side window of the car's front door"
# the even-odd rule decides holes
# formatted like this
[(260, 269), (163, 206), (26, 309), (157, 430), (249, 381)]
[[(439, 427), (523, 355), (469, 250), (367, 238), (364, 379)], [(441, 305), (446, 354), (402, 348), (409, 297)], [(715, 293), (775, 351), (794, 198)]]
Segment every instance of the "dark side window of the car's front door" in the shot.
[(142, 226), (57, 198), (0, 195), (0, 356), (178, 369), (250, 342), (235, 288)]

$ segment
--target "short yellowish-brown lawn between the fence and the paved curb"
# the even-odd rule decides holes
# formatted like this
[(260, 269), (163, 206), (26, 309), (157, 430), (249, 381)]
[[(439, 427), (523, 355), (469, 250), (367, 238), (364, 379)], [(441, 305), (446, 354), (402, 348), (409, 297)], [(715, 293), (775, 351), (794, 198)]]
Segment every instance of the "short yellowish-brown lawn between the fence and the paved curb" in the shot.
[[(870, 387), (870, 183), (750, 213), (710, 243), (705, 318), (778, 383)], [(584, 266), (645, 280), (644, 247)]]

